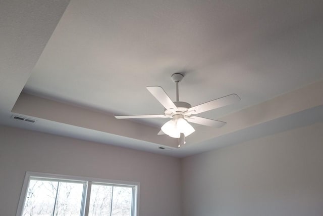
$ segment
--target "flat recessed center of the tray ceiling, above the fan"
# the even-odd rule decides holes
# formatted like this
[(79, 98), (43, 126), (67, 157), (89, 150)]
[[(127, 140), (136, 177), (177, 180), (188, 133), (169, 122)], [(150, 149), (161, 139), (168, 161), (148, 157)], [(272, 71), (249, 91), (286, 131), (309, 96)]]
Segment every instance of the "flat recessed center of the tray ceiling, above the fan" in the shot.
[[(159, 114), (145, 89), (175, 100), (232, 93), (225, 116), (322, 79), (320, 1), (71, 1), (25, 92), (115, 114)], [(318, 43), (319, 42), (319, 43)], [(159, 124), (167, 121), (145, 120)], [(234, 123), (234, 122), (231, 122)]]

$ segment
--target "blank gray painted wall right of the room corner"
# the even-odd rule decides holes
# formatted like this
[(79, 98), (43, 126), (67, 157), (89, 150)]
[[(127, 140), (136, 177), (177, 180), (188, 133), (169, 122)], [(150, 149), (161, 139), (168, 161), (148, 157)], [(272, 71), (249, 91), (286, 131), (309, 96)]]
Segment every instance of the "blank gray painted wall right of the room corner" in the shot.
[(182, 160), (183, 215), (323, 215), (323, 123)]

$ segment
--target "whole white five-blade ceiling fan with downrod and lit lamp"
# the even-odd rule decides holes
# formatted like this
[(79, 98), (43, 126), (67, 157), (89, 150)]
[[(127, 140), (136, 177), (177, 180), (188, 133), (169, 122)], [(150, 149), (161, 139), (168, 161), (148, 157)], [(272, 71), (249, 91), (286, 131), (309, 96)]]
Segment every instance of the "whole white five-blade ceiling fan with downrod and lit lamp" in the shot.
[(202, 118), (195, 116), (195, 114), (206, 112), (212, 109), (224, 107), (240, 101), (238, 95), (231, 94), (218, 98), (197, 106), (192, 107), (189, 103), (179, 101), (178, 83), (183, 79), (184, 75), (181, 73), (174, 73), (171, 78), (176, 83), (176, 101), (173, 102), (166, 94), (163, 88), (159, 86), (148, 86), (147, 90), (165, 107), (164, 114), (160, 115), (118, 115), (115, 116), (118, 119), (129, 118), (172, 118), (166, 122), (162, 127), (158, 135), (167, 134), (173, 138), (184, 138), (192, 134), (195, 129), (188, 122), (211, 126), (222, 127), (226, 124), (224, 121), (213, 120), (208, 118)]

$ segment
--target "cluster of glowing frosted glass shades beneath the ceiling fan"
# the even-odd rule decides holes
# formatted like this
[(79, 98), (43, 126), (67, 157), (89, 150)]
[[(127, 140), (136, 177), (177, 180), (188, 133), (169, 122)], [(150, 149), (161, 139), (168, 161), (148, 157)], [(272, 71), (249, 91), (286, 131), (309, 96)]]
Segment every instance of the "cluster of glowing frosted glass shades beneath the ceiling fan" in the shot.
[(161, 131), (173, 138), (180, 138), (181, 133), (185, 137), (192, 134), (195, 129), (190, 125), (184, 118), (172, 119), (166, 122), (162, 127)]

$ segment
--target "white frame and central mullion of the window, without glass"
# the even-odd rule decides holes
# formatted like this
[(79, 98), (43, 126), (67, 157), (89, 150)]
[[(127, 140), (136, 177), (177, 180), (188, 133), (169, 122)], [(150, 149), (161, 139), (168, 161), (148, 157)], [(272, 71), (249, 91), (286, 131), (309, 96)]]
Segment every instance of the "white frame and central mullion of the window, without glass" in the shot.
[(20, 199), (17, 207), (16, 216), (21, 216), (23, 213), (23, 208), (27, 196), (27, 190), (29, 187), (30, 180), (62, 180), (64, 182), (79, 182), (83, 183), (83, 197), (81, 204), (81, 214), (80, 216), (88, 216), (89, 204), (90, 204), (90, 195), (91, 195), (91, 186), (92, 183), (110, 185), (110, 186), (125, 186), (133, 188), (132, 194), (132, 212), (131, 216), (139, 216), (139, 182), (130, 182), (130, 181), (121, 181), (121, 180), (111, 180), (111, 179), (99, 179), (99, 178), (89, 178), (89, 177), (80, 177), (80, 176), (70, 176), (70, 175), (59, 175), (59, 174), (49, 174), (44, 172), (34, 172), (26, 171)]

